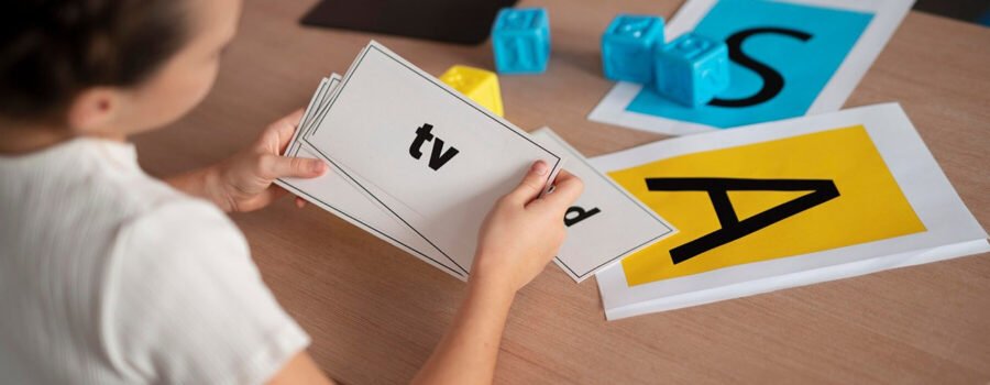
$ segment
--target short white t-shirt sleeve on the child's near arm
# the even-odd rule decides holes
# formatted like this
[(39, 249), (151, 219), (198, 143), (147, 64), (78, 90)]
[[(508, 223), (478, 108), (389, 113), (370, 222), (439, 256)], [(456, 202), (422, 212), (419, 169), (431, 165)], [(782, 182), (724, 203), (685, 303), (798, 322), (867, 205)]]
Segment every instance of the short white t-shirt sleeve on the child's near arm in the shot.
[(256, 384), (309, 344), (237, 227), (200, 201), (125, 226), (105, 290), (109, 361), (153, 383)]

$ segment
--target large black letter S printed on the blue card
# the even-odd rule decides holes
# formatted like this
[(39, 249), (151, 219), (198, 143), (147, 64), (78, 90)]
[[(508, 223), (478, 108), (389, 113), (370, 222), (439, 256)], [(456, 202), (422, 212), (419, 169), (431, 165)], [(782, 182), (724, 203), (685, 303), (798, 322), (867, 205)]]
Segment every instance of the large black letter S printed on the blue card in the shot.
[(749, 107), (762, 103), (767, 100), (773, 99), (780, 90), (783, 89), (783, 76), (780, 76), (780, 73), (770, 68), (770, 66), (757, 62), (752, 57), (746, 55), (743, 52), (743, 42), (745, 42), (749, 36), (758, 35), (761, 33), (776, 33), (781, 35), (791, 36), (798, 38), (802, 42), (809, 41), (812, 35), (805, 32), (788, 30), (788, 29), (779, 29), (779, 28), (758, 28), (758, 29), (748, 29), (734, 33), (729, 38), (725, 40), (725, 44), (728, 45), (729, 48), (729, 59), (738, 63), (740, 66), (751, 69), (757, 73), (760, 78), (763, 79), (763, 87), (760, 90), (751, 96), (748, 96), (743, 99), (719, 99), (715, 98), (708, 102), (712, 106), (718, 107)]

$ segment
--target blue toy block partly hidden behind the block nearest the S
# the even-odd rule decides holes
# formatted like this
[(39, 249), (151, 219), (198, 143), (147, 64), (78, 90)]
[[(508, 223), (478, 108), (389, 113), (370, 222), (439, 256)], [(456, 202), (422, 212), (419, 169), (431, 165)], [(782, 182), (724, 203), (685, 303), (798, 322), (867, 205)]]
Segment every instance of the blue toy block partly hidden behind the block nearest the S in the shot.
[(602, 69), (612, 80), (649, 84), (653, 45), (663, 45), (663, 19), (619, 14), (602, 34)]

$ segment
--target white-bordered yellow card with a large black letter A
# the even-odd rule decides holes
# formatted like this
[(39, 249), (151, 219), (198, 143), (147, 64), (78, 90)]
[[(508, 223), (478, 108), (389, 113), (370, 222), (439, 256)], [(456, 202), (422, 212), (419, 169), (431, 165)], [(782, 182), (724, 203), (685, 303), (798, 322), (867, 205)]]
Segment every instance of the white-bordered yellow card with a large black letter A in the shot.
[(990, 251), (897, 103), (591, 163), (679, 229), (595, 275), (609, 320)]

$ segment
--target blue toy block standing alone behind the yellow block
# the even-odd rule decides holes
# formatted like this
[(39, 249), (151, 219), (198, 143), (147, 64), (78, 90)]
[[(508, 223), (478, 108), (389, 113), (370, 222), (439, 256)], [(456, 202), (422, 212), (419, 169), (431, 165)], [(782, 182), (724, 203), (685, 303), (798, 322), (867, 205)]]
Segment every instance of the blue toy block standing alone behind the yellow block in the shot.
[(550, 61), (550, 18), (542, 8), (506, 8), (492, 25), (495, 69), (501, 74), (539, 74)]

